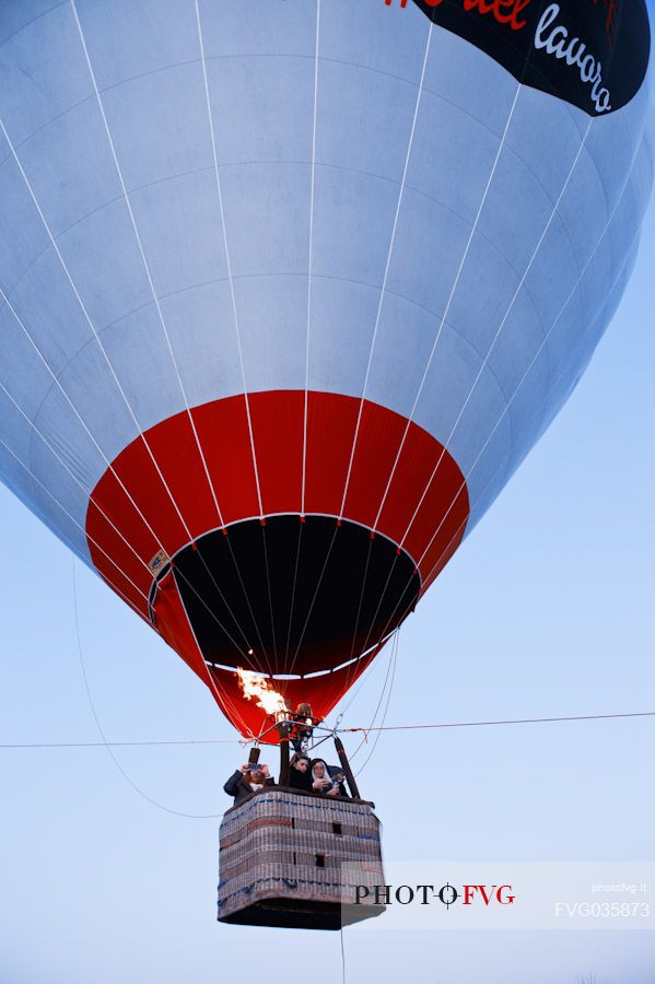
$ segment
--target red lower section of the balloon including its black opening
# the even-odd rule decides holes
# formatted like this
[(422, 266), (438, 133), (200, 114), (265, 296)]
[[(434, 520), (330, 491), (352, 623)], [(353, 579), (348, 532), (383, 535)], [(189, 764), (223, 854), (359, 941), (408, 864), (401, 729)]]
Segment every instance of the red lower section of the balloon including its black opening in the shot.
[(308, 394), (306, 431), (304, 412), (303, 391), (270, 391), (179, 413), (117, 457), (89, 506), (97, 570), (243, 734), (270, 719), (244, 699), (236, 667), (325, 716), (468, 517), (461, 472), (421, 427), (335, 394)]

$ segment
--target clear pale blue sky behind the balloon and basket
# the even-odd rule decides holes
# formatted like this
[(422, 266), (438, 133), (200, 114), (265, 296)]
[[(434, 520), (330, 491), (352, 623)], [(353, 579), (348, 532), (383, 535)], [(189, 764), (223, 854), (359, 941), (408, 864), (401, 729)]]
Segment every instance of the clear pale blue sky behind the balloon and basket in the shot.
[[(570, 403), (401, 633), (388, 724), (655, 707), (655, 212)], [(95, 741), (72, 561), (0, 488), (0, 742)], [(204, 687), (78, 563), (110, 739), (234, 738)], [(348, 708), (365, 725), (388, 654)], [(655, 719), (384, 736), (360, 777), (391, 860), (653, 860)], [(350, 741), (350, 749), (356, 748)], [(119, 749), (143, 792), (220, 815), (237, 745)], [(363, 762), (367, 750), (355, 757)], [(416, 785), (420, 766), (426, 780)], [(218, 925), (219, 819), (156, 809), (106, 751), (1, 750), (0, 984), (215, 984), (293, 964), (340, 980), (337, 934)], [(381, 930), (383, 921), (381, 919)], [(348, 980), (652, 984), (643, 933), (346, 933)]]

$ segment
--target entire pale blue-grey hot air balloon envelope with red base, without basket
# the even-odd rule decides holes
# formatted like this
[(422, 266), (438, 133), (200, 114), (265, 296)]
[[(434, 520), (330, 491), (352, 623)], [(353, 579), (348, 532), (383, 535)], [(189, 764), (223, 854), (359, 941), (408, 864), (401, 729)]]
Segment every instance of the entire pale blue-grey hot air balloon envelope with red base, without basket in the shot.
[(0, 475), (244, 736), (247, 673), (336, 705), (571, 395), (648, 55), (644, 0), (2, 3)]

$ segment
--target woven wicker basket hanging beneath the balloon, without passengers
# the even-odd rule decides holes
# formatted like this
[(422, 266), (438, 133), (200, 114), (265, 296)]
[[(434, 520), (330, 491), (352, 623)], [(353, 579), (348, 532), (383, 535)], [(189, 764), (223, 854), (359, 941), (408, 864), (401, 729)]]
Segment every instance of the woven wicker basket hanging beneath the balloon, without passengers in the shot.
[(269, 787), (225, 813), (220, 922), (338, 929), (379, 915), (354, 904), (355, 885), (384, 885), (373, 804)]

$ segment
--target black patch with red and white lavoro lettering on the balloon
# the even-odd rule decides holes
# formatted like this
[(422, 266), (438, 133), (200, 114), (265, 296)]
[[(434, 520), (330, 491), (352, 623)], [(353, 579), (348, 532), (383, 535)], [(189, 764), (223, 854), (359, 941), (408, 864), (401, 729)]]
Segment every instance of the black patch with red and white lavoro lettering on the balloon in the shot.
[(645, 0), (413, 0), (525, 85), (592, 116), (620, 109), (648, 66)]

